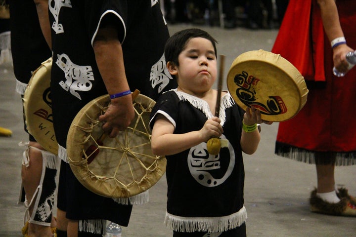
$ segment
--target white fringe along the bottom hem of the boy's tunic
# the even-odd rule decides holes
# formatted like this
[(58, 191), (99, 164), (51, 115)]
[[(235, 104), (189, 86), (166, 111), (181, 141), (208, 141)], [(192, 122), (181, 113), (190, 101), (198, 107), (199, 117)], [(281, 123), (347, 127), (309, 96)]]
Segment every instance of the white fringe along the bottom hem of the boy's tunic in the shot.
[(238, 212), (219, 217), (181, 217), (166, 212), (165, 224), (178, 232), (224, 232), (241, 226), (247, 219), (243, 206)]

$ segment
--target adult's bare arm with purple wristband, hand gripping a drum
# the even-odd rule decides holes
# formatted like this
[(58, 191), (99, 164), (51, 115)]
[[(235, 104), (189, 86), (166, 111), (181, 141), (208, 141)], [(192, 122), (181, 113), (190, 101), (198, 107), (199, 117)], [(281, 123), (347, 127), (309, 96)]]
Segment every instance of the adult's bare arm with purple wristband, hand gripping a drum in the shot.
[[(130, 89), (125, 74), (124, 57), (118, 33), (114, 27), (100, 28), (93, 41), (96, 64), (109, 94)], [(131, 95), (111, 99), (111, 105), (104, 115), (99, 117), (105, 122), (103, 130), (115, 137), (125, 130), (134, 118)]]

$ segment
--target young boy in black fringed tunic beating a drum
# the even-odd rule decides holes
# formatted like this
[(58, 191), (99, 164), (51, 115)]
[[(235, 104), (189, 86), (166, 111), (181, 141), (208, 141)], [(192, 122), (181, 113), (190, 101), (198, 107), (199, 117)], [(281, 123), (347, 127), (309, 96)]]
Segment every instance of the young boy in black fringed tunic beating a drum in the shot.
[[(167, 68), (178, 88), (164, 93), (151, 113), (152, 151), (167, 158), (165, 223), (174, 237), (246, 236), (242, 152), (256, 151), (256, 123), (262, 120), (260, 111), (245, 113), (227, 92), (221, 95), (220, 118), (213, 116), (215, 43), (199, 29), (182, 30), (167, 41)], [(217, 156), (207, 152), (211, 137), (228, 140)]]

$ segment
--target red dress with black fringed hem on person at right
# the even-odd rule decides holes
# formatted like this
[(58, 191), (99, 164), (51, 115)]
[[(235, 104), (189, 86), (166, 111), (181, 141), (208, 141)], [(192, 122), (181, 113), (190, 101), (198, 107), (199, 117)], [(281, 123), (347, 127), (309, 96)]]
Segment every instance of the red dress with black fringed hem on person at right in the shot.
[[(315, 163), (317, 158), (317, 162), (322, 159), (323, 163), (336, 159), (336, 165), (356, 164), (356, 68), (343, 78), (332, 74), (333, 52), (320, 25), (320, 9), (314, 0), (306, 2), (312, 6), (309, 13), (297, 14), (295, 11), (305, 11), (307, 4), (290, 0), (272, 49), (299, 69), (309, 89), (308, 101), (299, 114), (279, 123), (275, 153), (308, 163)], [(336, 3), (347, 43), (356, 49), (356, 1), (338, 0)], [(295, 4), (304, 7), (298, 9)], [(288, 17), (288, 14), (294, 15)], [(304, 24), (303, 19), (296, 16), (304, 17)], [(291, 29), (290, 22), (296, 20), (300, 29)], [(312, 29), (311, 34), (309, 29)]]

